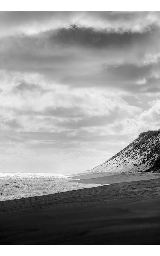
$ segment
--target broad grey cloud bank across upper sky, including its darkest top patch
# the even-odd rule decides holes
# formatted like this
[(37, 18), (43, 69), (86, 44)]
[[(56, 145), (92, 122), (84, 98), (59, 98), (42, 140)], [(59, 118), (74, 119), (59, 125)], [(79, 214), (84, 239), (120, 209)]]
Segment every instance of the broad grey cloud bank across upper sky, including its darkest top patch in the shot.
[(139, 91), (137, 80), (157, 78), (152, 74), (159, 72), (159, 57), (157, 63), (148, 64), (145, 58), (146, 54), (159, 53), (159, 36), (159, 28), (153, 26), (143, 33), (109, 33), (71, 26), (36, 36), (6, 37), (1, 39), (0, 68), (36, 72), (78, 87), (112, 86)]

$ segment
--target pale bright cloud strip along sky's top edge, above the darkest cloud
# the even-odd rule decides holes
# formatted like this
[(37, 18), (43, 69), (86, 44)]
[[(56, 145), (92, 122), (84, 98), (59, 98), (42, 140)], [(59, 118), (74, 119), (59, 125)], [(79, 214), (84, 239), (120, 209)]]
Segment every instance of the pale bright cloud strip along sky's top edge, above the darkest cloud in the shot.
[(118, 31), (143, 32), (146, 27), (160, 24), (159, 12), (122, 11), (14, 11), (0, 13), (1, 35), (26, 33), (68, 27), (70, 24), (114, 29)]

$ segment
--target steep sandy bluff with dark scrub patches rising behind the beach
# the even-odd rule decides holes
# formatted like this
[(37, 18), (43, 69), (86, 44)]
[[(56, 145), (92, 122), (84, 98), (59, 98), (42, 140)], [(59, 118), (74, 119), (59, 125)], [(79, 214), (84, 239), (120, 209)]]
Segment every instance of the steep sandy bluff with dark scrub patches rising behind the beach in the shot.
[(92, 172), (160, 172), (160, 130), (142, 132), (126, 148)]

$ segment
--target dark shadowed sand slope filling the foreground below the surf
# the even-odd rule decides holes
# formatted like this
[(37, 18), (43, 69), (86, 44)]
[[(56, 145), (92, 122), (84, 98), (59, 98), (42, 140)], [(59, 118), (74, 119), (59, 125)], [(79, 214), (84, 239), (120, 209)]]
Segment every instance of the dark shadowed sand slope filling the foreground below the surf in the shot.
[(1, 244), (160, 244), (160, 178), (0, 202)]

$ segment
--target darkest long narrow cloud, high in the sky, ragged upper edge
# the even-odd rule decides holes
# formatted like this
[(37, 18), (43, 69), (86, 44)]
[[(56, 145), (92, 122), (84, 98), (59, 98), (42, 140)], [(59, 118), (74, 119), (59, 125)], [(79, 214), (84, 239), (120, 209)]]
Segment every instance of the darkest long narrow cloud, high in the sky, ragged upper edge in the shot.
[(115, 32), (105, 30), (95, 30), (94, 28), (79, 27), (71, 25), (69, 28), (60, 28), (56, 32), (47, 32), (50, 39), (56, 43), (64, 45), (80, 45), (84, 47), (108, 48), (108, 47), (128, 47), (135, 43), (144, 47), (148, 44), (146, 40), (156, 39), (159, 35), (159, 28), (156, 26), (147, 27), (143, 33), (123, 32), (121, 30)]

